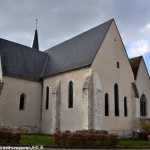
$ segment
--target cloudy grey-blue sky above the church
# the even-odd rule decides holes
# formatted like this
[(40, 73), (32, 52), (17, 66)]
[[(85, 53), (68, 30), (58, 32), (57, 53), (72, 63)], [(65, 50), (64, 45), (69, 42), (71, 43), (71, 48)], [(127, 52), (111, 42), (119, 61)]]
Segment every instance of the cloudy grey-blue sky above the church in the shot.
[(114, 18), (129, 58), (150, 73), (150, 0), (0, 0), (0, 38), (31, 46), (38, 19), (46, 50)]

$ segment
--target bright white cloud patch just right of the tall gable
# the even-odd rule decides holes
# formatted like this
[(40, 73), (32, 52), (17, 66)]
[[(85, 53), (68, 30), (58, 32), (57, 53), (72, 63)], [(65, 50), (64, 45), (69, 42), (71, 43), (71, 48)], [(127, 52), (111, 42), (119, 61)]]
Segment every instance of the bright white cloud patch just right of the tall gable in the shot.
[(146, 39), (140, 39), (130, 43), (127, 47), (129, 57), (136, 57), (150, 53), (150, 43)]

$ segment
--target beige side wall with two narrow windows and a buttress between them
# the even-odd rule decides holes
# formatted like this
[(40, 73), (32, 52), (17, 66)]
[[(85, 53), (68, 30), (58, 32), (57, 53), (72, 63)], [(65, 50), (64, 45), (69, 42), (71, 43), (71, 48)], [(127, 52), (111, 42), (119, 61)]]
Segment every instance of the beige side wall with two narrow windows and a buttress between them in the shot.
[[(91, 68), (83, 68), (44, 79), (42, 133), (89, 128), (89, 93), (84, 82), (89, 82), (91, 75)], [(69, 81), (73, 82), (73, 108), (68, 108)], [(50, 89), (48, 110), (45, 109), (47, 86)]]

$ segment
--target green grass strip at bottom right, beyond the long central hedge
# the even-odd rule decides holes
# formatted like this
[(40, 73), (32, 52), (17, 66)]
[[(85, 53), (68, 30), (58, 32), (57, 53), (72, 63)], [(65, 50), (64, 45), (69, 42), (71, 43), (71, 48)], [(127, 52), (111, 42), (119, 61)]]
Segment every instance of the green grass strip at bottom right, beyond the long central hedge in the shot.
[(120, 140), (119, 142), (119, 147), (150, 147), (150, 144), (148, 141), (146, 140), (132, 140), (132, 139), (128, 139), (128, 140)]

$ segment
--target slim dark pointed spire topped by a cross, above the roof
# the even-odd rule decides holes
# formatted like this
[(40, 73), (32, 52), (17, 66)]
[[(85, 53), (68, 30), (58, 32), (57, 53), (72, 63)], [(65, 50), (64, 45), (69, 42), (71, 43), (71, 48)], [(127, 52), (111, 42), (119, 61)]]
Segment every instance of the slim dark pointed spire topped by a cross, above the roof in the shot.
[(38, 20), (36, 19), (36, 21), (35, 21), (36, 28), (35, 28), (35, 34), (34, 34), (34, 37), (33, 37), (32, 48), (35, 48), (35, 49), (39, 50), (37, 21)]

